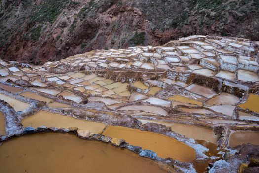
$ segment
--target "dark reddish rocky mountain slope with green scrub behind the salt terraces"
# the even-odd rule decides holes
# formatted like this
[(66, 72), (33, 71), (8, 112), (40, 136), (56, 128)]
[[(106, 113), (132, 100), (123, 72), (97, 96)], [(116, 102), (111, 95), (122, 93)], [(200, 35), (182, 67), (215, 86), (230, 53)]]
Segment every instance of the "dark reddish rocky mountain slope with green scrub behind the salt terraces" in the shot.
[(258, 0), (0, 0), (0, 58), (43, 64), (193, 34), (259, 40)]

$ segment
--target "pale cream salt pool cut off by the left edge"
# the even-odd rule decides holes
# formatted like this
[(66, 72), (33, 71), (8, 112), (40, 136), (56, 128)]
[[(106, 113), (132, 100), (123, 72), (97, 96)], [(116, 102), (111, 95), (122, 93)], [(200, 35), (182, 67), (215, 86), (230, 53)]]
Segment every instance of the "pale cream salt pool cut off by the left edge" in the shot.
[(17, 111), (24, 111), (25, 109), (29, 108), (31, 105), (20, 100), (14, 99), (4, 94), (0, 94), (0, 100), (7, 102), (13, 109)]

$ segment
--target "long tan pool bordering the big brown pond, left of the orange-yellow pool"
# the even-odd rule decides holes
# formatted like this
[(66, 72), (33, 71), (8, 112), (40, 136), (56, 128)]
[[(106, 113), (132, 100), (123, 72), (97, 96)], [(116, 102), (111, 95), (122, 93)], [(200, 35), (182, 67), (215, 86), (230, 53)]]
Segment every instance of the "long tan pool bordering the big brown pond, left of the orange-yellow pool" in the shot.
[(24, 118), (22, 124), (24, 127), (32, 126), (34, 128), (40, 126), (56, 128), (77, 127), (78, 129), (87, 130), (94, 134), (101, 133), (105, 128), (105, 124), (103, 123), (75, 119), (73, 117), (46, 111), (39, 111), (32, 116)]

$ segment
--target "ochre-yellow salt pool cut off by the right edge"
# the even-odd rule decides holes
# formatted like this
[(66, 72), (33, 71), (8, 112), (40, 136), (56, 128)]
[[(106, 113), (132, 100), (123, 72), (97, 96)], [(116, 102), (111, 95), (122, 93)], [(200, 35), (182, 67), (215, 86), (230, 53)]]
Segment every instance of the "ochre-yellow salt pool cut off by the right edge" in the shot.
[(247, 101), (243, 104), (238, 105), (243, 109), (249, 109), (253, 112), (259, 113), (259, 95), (256, 94), (249, 94)]

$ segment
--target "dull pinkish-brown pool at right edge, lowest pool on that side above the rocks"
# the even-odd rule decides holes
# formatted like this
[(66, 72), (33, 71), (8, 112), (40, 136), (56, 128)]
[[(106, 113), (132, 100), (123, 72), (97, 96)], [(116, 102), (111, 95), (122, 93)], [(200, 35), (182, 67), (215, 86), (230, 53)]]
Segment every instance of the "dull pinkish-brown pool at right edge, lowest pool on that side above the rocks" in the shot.
[(241, 131), (230, 135), (228, 144), (230, 147), (242, 145), (243, 143), (259, 145), (259, 132)]

